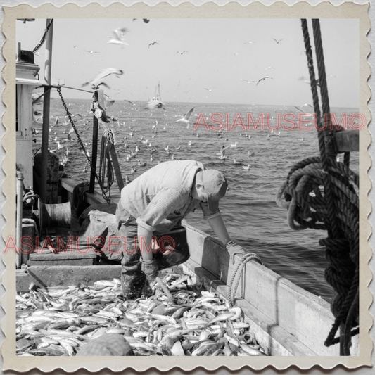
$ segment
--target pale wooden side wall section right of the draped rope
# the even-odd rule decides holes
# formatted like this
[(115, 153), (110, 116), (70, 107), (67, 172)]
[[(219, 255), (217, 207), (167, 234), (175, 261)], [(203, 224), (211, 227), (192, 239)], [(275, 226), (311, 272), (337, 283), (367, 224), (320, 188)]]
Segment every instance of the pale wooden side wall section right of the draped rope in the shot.
[(329, 303), (255, 262), (248, 262), (243, 278), (243, 298), (256, 300), (260, 311), (317, 355), (338, 355), (338, 348), (324, 346), (334, 322)]

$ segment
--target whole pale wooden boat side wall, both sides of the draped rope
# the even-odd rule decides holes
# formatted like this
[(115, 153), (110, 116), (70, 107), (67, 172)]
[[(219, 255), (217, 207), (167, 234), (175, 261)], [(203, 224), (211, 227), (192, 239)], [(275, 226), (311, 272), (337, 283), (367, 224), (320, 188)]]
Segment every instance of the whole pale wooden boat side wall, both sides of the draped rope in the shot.
[[(191, 251), (191, 260), (229, 284), (235, 265), (219, 241), (183, 222)], [(255, 251), (255, 250), (254, 250)], [(256, 251), (255, 251), (256, 252)], [(237, 258), (239, 260), (239, 258)], [(291, 333), (317, 355), (338, 355), (338, 345), (324, 346), (333, 324), (329, 303), (284, 279), (255, 261), (247, 263), (239, 285), (239, 295), (274, 324)], [(358, 352), (356, 336), (352, 353)]]

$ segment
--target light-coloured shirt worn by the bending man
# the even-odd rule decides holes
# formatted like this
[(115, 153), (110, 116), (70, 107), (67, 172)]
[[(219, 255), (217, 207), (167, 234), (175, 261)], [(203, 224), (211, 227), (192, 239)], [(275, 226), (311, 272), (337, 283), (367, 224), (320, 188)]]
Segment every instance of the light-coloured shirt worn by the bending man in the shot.
[(160, 163), (144, 172), (121, 191), (120, 203), (141, 227), (165, 233), (201, 206), (204, 217), (216, 217), (207, 203), (191, 195), (196, 172), (203, 164), (195, 160), (173, 160)]

